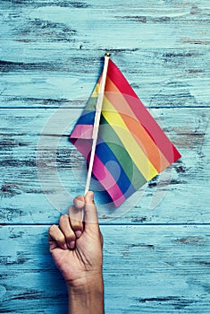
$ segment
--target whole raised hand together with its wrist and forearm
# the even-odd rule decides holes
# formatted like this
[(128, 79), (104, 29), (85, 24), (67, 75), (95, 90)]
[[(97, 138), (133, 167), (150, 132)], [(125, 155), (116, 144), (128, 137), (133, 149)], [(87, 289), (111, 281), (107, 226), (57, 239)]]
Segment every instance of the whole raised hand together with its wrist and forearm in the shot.
[(104, 314), (103, 237), (93, 192), (77, 196), (69, 214), (48, 234), (50, 252), (67, 285), (69, 314)]

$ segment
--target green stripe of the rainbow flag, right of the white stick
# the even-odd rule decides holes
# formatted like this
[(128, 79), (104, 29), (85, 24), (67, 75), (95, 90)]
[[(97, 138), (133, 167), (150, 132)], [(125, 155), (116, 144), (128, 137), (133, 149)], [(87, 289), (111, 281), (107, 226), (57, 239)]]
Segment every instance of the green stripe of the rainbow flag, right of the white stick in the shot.
[(109, 148), (113, 151), (113, 154), (120, 162), (123, 170), (130, 179), (133, 187), (139, 189), (142, 187), (147, 180), (143, 177), (135, 163), (130, 158), (129, 153), (125, 149), (119, 136), (116, 135), (113, 127), (107, 123), (103, 116), (100, 120), (99, 136), (105, 141)]

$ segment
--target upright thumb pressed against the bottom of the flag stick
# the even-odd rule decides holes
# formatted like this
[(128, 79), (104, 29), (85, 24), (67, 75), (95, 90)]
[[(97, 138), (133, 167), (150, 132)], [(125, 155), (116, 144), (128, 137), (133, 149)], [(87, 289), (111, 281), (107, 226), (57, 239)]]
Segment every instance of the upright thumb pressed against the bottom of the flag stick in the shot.
[(98, 228), (97, 207), (94, 203), (94, 194), (89, 191), (85, 196), (85, 226)]

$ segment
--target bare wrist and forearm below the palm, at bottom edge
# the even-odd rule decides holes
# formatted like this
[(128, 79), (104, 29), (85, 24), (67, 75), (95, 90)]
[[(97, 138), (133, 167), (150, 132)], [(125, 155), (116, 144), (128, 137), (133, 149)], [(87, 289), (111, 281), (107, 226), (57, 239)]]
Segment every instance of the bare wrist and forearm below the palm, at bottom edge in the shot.
[(85, 286), (68, 287), (69, 314), (104, 314), (104, 283), (102, 276)]

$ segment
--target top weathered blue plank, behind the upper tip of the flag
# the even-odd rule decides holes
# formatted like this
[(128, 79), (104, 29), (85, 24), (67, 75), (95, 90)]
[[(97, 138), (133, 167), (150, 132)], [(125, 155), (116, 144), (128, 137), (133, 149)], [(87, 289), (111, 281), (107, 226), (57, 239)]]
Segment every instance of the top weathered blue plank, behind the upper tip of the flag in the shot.
[(79, 106), (105, 48), (139, 97), (157, 107), (207, 106), (207, 0), (2, 1), (1, 107)]

